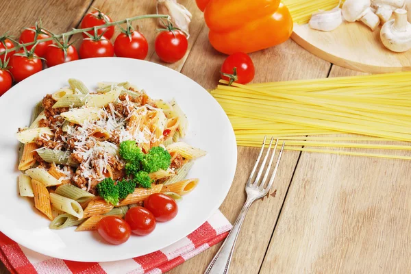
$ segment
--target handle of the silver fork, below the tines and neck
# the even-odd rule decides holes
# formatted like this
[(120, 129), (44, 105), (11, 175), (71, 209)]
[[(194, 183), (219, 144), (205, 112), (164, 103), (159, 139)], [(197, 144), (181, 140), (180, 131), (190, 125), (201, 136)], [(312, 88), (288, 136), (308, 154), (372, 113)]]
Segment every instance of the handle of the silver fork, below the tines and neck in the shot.
[(236, 241), (237, 241), (238, 234), (240, 233), (242, 222), (244, 221), (245, 215), (247, 214), (251, 206), (251, 203), (253, 203), (253, 201), (255, 200), (249, 199), (247, 197), (247, 201), (245, 201), (245, 204), (242, 207), (240, 215), (238, 215), (238, 218), (236, 222), (234, 223), (234, 226), (231, 232), (229, 232), (227, 238), (223, 242), (223, 245), (221, 245), (219, 251), (217, 251), (214, 258), (212, 258), (212, 261), (210, 262), (210, 264), (208, 264), (206, 271), (204, 271), (204, 274), (227, 274), (228, 273), (229, 264), (232, 259), (232, 254), (234, 251), (234, 247), (236, 246)]

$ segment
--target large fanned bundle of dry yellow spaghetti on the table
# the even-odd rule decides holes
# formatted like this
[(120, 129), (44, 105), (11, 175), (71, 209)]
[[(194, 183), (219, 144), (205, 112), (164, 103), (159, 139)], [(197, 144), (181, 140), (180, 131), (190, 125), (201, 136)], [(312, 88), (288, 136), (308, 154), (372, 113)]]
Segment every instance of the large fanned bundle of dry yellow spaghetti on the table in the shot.
[[(211, 93), (227, 113), (238, 145), (258, 147), (268, 135), (285, 140), (289, 150), (411, 160), (411, 153), (368, 153), (370, 149), (411, 150), (410, 72), (232, 86), (225, 86), (224, 80), (221, 83)], [(332, 147), (337, 150), (323, 149)], [(367, 153), (358, 151), (363, 149)]]

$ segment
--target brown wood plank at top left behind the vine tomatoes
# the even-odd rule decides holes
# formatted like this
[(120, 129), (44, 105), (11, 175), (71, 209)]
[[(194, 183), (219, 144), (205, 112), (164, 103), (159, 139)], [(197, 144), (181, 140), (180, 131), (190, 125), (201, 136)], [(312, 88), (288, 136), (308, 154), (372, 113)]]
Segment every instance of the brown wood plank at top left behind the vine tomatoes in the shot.
[[(51, 32), (67, 32), (72, 27), (77, 26), (91, 2), (92, 0), (37, 0), (34, 3), (25, 0), (2, 0), (0, 1), (1, 10), (7, 16), (3, 16), (1, 21), (0, 34), (9, 32), (10, 35), (16, 36), (18, 39), (21, 29), (34, 25), (39, 18), (41, 18), (43, 26), (50, 29)], [(5, 273), (9, 273), (9, 271), (0, 262), (0, 274)]]

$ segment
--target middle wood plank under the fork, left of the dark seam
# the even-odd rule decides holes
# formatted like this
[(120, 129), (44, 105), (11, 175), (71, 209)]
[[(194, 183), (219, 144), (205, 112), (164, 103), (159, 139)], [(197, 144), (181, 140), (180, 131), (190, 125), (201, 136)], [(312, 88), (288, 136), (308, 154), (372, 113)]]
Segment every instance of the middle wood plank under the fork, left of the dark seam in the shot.
[[(292, 40), (278, 47), (252, 53), (250, 56), (256, 66), (255, 82), (326, 77), (330, 66), (329, 63), (303, 50)], [(182, 73), (204, 88), (215, 88), (225, 57), (211, 47), (208, 42), (208, 29), (204, 28), (184, 64)], [(220, 208), (232, 223), (236, 220), (245, 202), (245, 182), (257, 155), (258, 149), (238, 147), (236, 177)], [(257, 201), (251, 207), (238, 238), (230, 273), (258, 273), (298, 157), (299, 152), (284, 155), (274, 184), (274, 188), (277, 189), (276, 197)], [(170, 273), (193, 273), (193, 270), (195, 273), (201, 273), (206, 269), (218, 248), (219, 246), (213, 247), (201, 253)]]

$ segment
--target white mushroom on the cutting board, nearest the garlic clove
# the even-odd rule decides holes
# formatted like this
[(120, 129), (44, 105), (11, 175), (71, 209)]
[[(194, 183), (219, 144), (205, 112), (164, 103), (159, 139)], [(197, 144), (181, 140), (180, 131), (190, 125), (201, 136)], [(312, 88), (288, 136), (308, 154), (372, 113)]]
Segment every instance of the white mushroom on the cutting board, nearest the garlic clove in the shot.
[(343, 16), (348, 22), (361, 21), (374, 30), (379, 25), (379, 17), (370, 7), (370, 0), (346, 0), (343, 5)]

